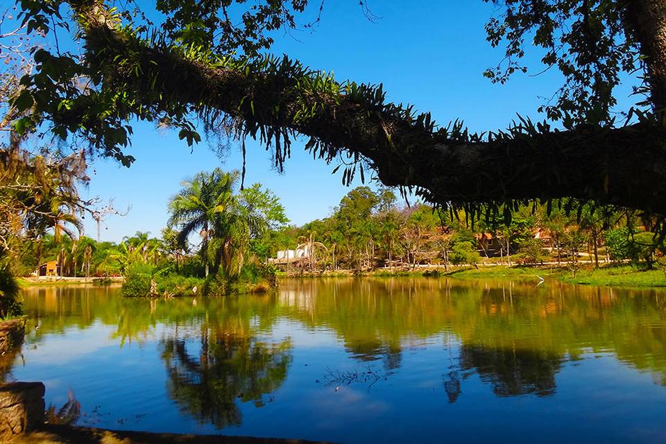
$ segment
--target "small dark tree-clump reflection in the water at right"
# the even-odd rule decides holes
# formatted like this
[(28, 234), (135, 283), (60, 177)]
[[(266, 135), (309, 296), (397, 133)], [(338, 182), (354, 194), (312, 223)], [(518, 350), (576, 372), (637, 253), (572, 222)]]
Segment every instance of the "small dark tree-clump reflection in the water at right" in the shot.
[(461, 368), (475, 370), (497, 396), (555, 393), (562, 357), (544, 350), (511, 350), (462, 345)]

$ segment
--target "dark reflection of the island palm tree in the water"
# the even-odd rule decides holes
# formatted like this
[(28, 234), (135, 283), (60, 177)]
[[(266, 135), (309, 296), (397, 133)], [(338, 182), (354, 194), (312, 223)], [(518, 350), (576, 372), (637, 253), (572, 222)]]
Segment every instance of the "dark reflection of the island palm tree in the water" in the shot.
[[(198, 356), (188, 350), (195, 345)], [(237, 402), (253, 401), (261, 407), (264, 395), (282, 385), (291, 363), (290, 341), (267, 344), (207, 327), (200, 344), (168, 338), (161, 346), (171, 398), (200, 422), (219, 428), (241, 424)]]

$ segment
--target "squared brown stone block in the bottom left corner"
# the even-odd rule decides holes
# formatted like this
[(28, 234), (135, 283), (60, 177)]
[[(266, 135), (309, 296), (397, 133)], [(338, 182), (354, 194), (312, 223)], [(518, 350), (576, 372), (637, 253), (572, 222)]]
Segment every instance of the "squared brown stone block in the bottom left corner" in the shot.
[(0, 442), (44, 424), (44, 384), (0, 384)]

